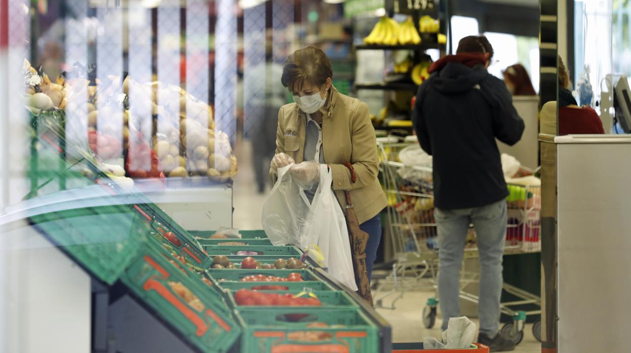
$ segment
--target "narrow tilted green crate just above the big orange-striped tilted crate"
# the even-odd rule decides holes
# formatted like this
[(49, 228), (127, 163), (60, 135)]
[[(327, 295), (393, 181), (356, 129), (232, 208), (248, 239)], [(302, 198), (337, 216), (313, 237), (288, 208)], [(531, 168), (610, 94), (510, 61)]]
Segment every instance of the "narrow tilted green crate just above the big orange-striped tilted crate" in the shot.
[[(131, 210), (140, 215), (143, 222), (150, 225), (151, 238), (156, 239), (163, 244), (169, 245), (173, 248), (173, 251), (191, 260), (191, 263), (199, 266), (200, 268), (207, 268), (213, 263), (213, 260), (204, 253), (199, 245), (199, 242), (194, 237), (188, 234), (186, 230), (182, 229), (182, 227), (177, 225), (177, 223), (175, 223), (171, 218), (168, 218), (168, 216), (155, 212), (153, 204), (133, 204), (129, 205), (129, 207)], [(165, 232), (172, 232), (175, 234), (182, 244), (180, 246), (175, 246), (175, 244), (169, 242), (162, 236)]]

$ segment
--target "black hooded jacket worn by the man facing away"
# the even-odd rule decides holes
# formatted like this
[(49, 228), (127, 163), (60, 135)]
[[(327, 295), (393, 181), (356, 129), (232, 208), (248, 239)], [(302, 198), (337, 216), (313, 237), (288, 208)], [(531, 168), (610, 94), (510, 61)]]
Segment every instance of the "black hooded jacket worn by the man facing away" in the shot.
[(438, 208), (480, 207), (508, 196), (495, 138), (514, 145), (524, 121), (484, 61), (478, 54), (447, 56), (432, 65), (416, 95), (412, 121), (421, 147), (433, 156)]

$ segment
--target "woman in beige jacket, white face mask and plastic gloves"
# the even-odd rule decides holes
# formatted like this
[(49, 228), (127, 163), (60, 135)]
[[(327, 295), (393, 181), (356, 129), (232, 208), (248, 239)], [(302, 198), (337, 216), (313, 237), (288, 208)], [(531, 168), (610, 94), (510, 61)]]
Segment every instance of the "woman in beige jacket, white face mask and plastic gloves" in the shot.
[[(294, 103), (278, 112), (276, 155), (270, 174), (295, 163), (290, 169), (298, 182), (312, 185), (319, 180), (319, 165), (327, 164), (333, 174), (333, 190), (346, 206), (350, 190), (360, 228), (370, 236), (366, 248), (368, 275), (381, 239), (379, 213), (387, 200), (377, 169), (377, 139), (368, 105), (343, 95), (331, 84), (331, 61), (321, 49), (305, 47), (290, 55), (283, 65), (281, 83), (292, 92)], [(357, 174), (351, 182), (350, 162)]]

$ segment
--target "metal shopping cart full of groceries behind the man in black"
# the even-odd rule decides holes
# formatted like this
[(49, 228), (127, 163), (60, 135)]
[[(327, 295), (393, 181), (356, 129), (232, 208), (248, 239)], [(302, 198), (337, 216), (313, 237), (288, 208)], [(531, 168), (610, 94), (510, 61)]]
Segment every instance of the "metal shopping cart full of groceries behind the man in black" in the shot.
[[(432, 167), (429, 165), (410, 165), (399, 161), (399, 153), (411, 145), (415, 145), (416, 138), (394, 139), (381, 141), (380, 176), (384, 191), (388, 196), (387, 230), (391, 236), (394, 252), (392, 272), (379, 286), (391, 287), (380, 297), (376, 298), (377, 308), (394, 309), (396, 301), (403, 297), (406, 289), (433, 288), (437, 289), (438, 253), (436, 223), (433, 218), (433, 180)], [(534, 182), (533, 182), (534, 181)], [(540, 210), (541, 186), (534, 177), (516, 179), (510, 183), (507, 198), (509, 224), (507, 225), (505, 253), (536, 253), (541, 251), (540, 241)], [(466, 238), (464, 258), (477, 258), (475, 230), (469, 229)], [(475, 293), (466, 291), (472, 283), (478, 283), (478, 271), (461, 271), (460, 297), (466, 301), (478, 303)], [(526, 318), (541, 314), (541, 299), (526, 290), (514, 285), (504, 284), (505, 292), (519, 298), (517, 301), (502, 302), (502, 313), (513, 318), (501, 330), (502, 335), (516, 343), (521, 342)], [(397, 294), (390, 306), (384, 306), (386, 297)], [(537, 310), (519, 311), (516, 306), (533, 304)], [(432, 328), (437, 316), (438, 301), (435, 297), (428, 299), (423, 309), (423, 323)], [(541, 322), (533, 325), (533, 334), (541, 340)]]

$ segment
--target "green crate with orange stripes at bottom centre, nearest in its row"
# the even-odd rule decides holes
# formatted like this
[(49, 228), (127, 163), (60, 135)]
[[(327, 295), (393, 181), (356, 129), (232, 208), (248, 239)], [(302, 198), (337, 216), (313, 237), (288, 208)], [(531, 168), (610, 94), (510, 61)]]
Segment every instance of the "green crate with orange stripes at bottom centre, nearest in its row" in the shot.
[[(309, 307), (270, 307), (247, 308), (235, 310), (237, 319), (243, 327), (241, 337), (242, 352), (379, 352), (379, 335), (377, 327), (356, 308), (320, 308)], [(306, 315), (298, 322), (287, 321), (285, 314)], [(327, 325), (343, 325), (312, 327), (314, 322)], [(327, 335), (317, 342), (298, 340), (295, 335), (312, 333)]]

